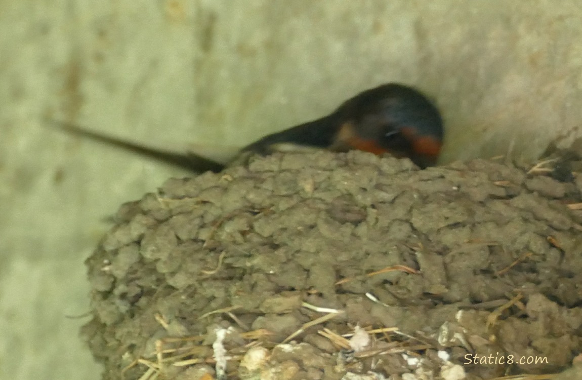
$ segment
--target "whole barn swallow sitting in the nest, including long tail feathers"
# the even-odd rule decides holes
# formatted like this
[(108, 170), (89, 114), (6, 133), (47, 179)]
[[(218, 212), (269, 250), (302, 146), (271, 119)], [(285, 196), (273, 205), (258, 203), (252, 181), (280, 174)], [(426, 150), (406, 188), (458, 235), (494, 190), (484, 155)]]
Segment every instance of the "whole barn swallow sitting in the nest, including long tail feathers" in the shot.
[[(236, 157), (217, 158), (215, 149), (191, 146), (176, 149), (129, 142), (72, 124), (55, 122), (65, 131), (122, 147), (136, 153), (194, 170), (218, 172)], [(443, 125), (437, 108), (418, 90), (388, 83), (365, 90), (340, 105), (331, 114), (282, 132), (273, 133), (239, 150), (241, 154), (266, 155), (283, 146), (308, 146), (334, 152), (364, 150), (374, 154), (408, 157), (425, 168), (437, 163), (443, 140)], [(204, 152), (204, 150), (206, 152)], [(212, 152), (214, 151), (214, 152)]]

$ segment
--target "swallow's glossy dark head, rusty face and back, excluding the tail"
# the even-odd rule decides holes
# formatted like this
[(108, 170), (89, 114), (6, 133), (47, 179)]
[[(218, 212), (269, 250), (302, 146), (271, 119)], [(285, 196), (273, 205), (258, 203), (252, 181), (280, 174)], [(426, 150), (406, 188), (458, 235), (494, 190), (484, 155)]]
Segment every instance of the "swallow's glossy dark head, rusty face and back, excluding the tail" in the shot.
[(267, 154), (280, 143), (293, 143), (335, 152), (389, 153), (425, 168), (437, 163), (443, 135), (437, 107), (411, 87), (388, 83), (357, 94), (325, 117), (265, 136), (243, 151)]

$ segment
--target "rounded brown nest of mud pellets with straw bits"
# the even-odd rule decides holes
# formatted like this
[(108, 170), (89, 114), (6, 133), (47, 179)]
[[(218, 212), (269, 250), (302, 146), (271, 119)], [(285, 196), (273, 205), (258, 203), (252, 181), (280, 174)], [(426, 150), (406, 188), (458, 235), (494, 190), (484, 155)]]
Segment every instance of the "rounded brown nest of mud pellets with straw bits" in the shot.
[(87, 259), (83, 335), (104, 379), (560, 371), (582, 351), (581, 191), (362, 152), (171, 179)]

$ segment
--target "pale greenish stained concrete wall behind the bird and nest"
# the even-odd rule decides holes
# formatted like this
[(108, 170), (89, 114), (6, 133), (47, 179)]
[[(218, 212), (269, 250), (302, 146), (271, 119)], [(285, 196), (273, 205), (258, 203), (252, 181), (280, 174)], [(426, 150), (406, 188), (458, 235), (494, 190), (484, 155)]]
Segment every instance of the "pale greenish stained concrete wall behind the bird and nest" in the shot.
[(179, 171), (51, 131), (242, 146), (382, 82), (434, 98), (444, 161), (580, 137), (576, 0), (0, 0), (0, 378), (97, 379), (83, 259)]

